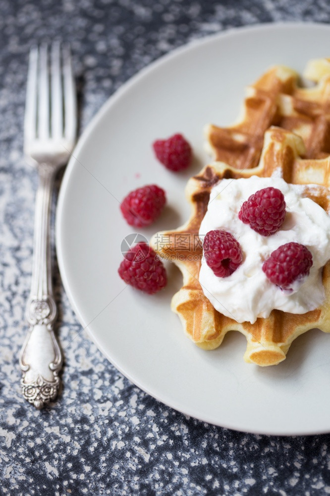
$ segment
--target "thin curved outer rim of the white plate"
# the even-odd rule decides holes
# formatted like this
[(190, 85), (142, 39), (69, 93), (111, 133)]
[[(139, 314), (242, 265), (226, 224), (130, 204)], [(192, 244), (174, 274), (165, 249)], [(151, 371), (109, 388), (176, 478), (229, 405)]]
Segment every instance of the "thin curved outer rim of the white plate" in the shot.
[[(65, 196), (66, 196), (66, 190), (69, 184), (70, 180), (70, 175), (78, 161), (77, 156), (79, 156), (79, 153), (83, 146), (85, 145), (86, 141), (88, 141), (89, 136), (94, 130), (94, 127), (98, 124), (99, 121), (103, 119), (103, 117), (110, 111), (111, 107), (116, 103), (117, 100), (121, 98), (121, 96), (129, 90), (130, 87), (134, 86), (136, 82), (138, 82), (140, 79), (143, 79), (144, 77), (148, 77), (148, 74), (153, 72), (155, 69), (157, 70), (158, 66), (163, 65), (166, 63), (167, 60), (172, 60), (175, 59), (176, 57), (181, 56), (181, 54), (184, 54), (184, 52), (188, 52), (193, 48), (194, 46), (202, 46), (202, 45), (207, 45), (208, 43), (212, 43), (217, 39), (221, 38), (228, 38), (235, 36), (237, 33), (240, 32), (254, 32), (254, 31), (266, 31), (268, 29), (282, 29), (282, 28), (294, 28), (294, 29), (308, 29), (308, 28), (318, 28), (318, 29), (324, 29), (325, 31), (330, 32), (330, 25), (323, 23), (323, 22), (304, 22), (304, 21), (280, 21), (280, 22), (265, 22), (265, 23), (255, 23), (255, 24), (250, 24), (250, 25), (244, 25), (244, 26), (237, 26), (237, 27), (230, 27), (226, 28), (222, 31), (213, 33), (213, 34), (208, 34), (205, 36), (202, 36), (201, 38), (193, 39), (188, 41), (187, 43), (176, 47), (172, 50), (170, 50), (168, 53), (160, 56), (158, 59), (154, 60), (153, 62), (150, 62), (148, 65), (143, 67), (142, 69), (138, 70), (133, 76), (131, 76), (128, 80), (126, 80), (117, 90), (114, 91), (113, 94), (110, 95), (109, 98), (102, 104), (100, 109), (95, 113), (95, 115), (92, 117), (90, 122), (86, 125), (85, 129), (83, 130), (82, 134), (78, 137), (76, 146), (71, 153), (70, 160), (64, 170), (64, 174), (62, 177), (61, 185), (59, 188), (59, 193), (58, 193), (58, 198), (57, 198), (57, 205), (56, 205), (56, 211), (55, 211), (55, 248), (56, 248), (56, 258), (57, 258), (57, 263), (58, 263), (58, 269), (61, 277), (61, 281), (64, 287), (64, 291), (67, 295), (67, 298), (69, 300), (69, 303), (79, 321), (79, 323), (82, 325), (84, 331), (87, 332), (89, 338), (94, 342), (94, 344), (97, 346), (99, 351), (102, 353), (103, 356), (107, 358), (107, 360), (122, 374), (124, 375), (128, 380), (130, 380), (134, 385), (139, 387), (141, 390), (155, 398), (156, 400), (160, 401), (162, 404), (166, 405), (169, 408), (172, 408), (180, 413), (182, 413), (185, 416), (197, 419), (201, 422), (206, 422), (210, 425), (215, 425), (219, 426), (225, 429), (231, 429), (234, 431), (242, 432), (242, 433), (250, 433), (250, 434), (263, 434), (263, 435), (272, 435), (272, 436), (300, 436), (300, 435), (320, 435), (320, 434), (327, 434), (330, 433), (330, 426), (328, 430), (324, 429), (311, 429), (311, 430), (306, 430), (306, 429), (297, 429), (296, 431), (292, 432), (292, 429), (289, 431), (285, 431), (285, 429), (275, 429), (272, 431), (267, 431), (267, 430), (256, 430), (256, 429), (246, 429), (242, 428), (236, 424), (230, 424), (230, 422), (226, 423), (216, 423), (214, 419), (208, 418), (206, 415), (199, 415), (197, 412), (196, 414), (192, 415), (191, 413), (185, 411), (184, 408), (178, 407), (178, 405), (174, 405), (173, 402), (171, 403), (169, 400), (165, 400), (164, 396), (158, 395), (154, 391), (151, 391), (146, 385), (140, 384), (140, 382), (132, 377), (129, 373), (125, 372), (116, 362), (115, 358), (112, 357), (106, 349), (103, 348), (103, 346), (100, 344), (98, 341), (97, 337), (93, 334), (93, 332), (89, 328), (89, 323), (87, 323), (81, 314), (78, 305), (75, 302), (74, 295), (70, 289), (70, 283), (67, 278), (67, 273), (65, 270), (65, 262), (64, 262), (64, 255), (62, 251), (62, 231), (61, 231), (61, 218), (63, 217), (63, 212), (64, 212), (64, 202), (65, 202)], [(79, 161), (78, 161), (79, 162)]]

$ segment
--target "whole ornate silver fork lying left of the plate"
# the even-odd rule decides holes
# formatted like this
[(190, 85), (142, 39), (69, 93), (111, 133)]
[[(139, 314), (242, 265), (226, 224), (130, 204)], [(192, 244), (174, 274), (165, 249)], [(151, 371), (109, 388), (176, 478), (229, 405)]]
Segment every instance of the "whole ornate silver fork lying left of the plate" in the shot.
[(31, 49), (24, 117), (24, 154), (39, 173), (29, 330), (20, 354), (22, 394), (36, 408), (55, 399), (62, 354), (54, 334), (57, 314), (50, 252), (50, 207), (55, 174), (76, 138), (77, 108), (71, 57), (58, 42)]

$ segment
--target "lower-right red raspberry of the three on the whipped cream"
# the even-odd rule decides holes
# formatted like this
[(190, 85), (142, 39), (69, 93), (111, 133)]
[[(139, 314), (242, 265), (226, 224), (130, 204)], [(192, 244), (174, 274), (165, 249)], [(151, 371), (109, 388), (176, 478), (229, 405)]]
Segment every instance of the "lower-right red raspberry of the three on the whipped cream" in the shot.
[(290, 285), (304, 276), (308, 276), (313, 265), (312, 253), (299, 243), (286, 243), (275, 249), (263, 263), (263, 271), (268, 279), (281, 289), (290, 289)]

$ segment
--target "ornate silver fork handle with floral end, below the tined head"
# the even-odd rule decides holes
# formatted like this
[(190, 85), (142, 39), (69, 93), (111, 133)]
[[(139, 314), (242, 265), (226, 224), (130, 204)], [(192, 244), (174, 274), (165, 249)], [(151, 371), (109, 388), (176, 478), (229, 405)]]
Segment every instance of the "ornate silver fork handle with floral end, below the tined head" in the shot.
[(52, 165), (40, 164), (38, 171), (32, 283), (26, 307), (29, 329), (19, 362), (23, 374), (22, 394), (41, 409), (55, 399), (58, 392), (62, 354), (53, 328), (57, 310), (52, 289), (50, 251), (50, 210), (55, 169)]

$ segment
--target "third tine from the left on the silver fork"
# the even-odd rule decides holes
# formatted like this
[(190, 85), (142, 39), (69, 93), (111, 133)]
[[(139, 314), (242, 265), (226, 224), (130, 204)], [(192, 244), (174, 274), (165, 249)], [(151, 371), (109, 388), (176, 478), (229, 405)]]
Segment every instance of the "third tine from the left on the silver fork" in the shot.
[(51, 51), (51, 114), (52, 137), (60, 138), (63, 135), (63, 99), (60, 66), (60, 43), (55, 42)]

